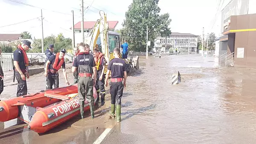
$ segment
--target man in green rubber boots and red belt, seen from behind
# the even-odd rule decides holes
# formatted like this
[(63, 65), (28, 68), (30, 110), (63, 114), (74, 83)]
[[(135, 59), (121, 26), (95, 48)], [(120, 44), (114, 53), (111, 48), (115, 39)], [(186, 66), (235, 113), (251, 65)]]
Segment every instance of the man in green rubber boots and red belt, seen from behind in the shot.
[[(114, 58), (110, 60), (108, 65), (108, 72), (106, 75), (105, 86), (108, 86), (108, 78), (111, 72), (110, 94), (111, 94), (111, 111), (110, 117), (115, 117), (116, 109), (116, 121), (121, 121), (121, 99), (123, 90), (126, 87), (127, 73), (125, 69), (125, 61), (119, 58), (120, 49), (114, 49)], [(116, 107), (115, 107), (116, 104)]]

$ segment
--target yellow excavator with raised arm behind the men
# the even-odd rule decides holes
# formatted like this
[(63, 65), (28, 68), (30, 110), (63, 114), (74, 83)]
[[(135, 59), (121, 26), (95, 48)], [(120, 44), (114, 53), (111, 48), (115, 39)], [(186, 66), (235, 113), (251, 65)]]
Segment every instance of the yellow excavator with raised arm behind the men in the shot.
[[(109, 61), (114, 58), (114, 48), (119, 47), (121, 49), (120, 36), (117, 32), (108, 31), (107, 14), (100, 11), (99, 15), (100, 19), (96, 21), (93, 29), (88, 33), (87, 37), (84, 37), (84, 42), (90, 46), (91, 51), (97, 47), (105, 56), (107, 62), (106, 65), (108, 66)], [(121, 54), (120, 58), (122, 58)], [(139, 57), (137, 56), (135, 60), (132, 59), (133, 57), (129, 60), (125, 60), (127, 63), (128, 73), (131, 68), (139, 69)], [(104, 74), (107, 73), (107, 66), (105, 67)]]

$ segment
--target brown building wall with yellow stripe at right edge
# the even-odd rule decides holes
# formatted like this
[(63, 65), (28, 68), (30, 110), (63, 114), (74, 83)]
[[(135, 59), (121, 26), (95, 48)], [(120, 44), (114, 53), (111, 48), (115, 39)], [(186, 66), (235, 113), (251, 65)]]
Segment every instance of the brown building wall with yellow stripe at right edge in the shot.
[[(242, 31), (227, 34), (227, 51), (234, 52), (234, 66), (256, 67), (256, 14), (231, 16), (224, 33), (229, 30)], [(244, 58), (237, 58), (237, 48), (244, 48)]]

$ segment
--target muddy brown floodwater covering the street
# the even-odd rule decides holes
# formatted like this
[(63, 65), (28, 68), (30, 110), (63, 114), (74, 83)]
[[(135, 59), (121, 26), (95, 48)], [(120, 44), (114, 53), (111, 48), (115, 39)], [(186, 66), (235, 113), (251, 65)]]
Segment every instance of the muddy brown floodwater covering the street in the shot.
[[(115, 130), (104, 144), (255, 143), (256, 69), (219, 68), (218, 58), (200, 54), (140, 58), (140, 69), (142, 74), (128, 77), (121, 123), (108, 119), (107, 95), (94, 120), (76, 117), (44, 135), (26, 124), (11, 126), (15, 120), (0, 123), (0, 143), (90, 144), (110, 126)], [(171, 84), (175, 71), (181, 74), (178, 85)], [(28, 86), (29, 92), (45, 89), (45, 78), (32, 76)], [(0, 98), (13, 97), (16, 89), (6, 86)]]

